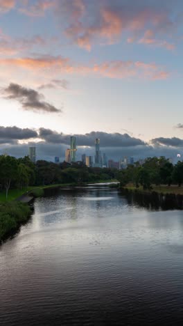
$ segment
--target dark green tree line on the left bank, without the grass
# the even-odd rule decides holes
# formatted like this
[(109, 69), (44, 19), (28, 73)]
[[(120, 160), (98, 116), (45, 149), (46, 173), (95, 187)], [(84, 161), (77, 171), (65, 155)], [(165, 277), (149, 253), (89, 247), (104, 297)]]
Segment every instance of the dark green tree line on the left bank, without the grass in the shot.
[(33, 164), (28, 156), (19, 159), (0, 156), (0, 184), (1, 189), (6, 189), (6, 198), (10, 188), (107, 181), (116, 178), (116, 174), (116, 169), (90, 168), (82, 162), (55, 164), (38, 160)]

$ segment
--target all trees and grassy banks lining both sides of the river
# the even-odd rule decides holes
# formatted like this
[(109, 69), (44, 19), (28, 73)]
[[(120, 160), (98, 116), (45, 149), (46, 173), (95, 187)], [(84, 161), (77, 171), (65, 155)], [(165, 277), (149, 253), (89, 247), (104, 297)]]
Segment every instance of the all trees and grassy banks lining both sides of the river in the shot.
[[(26, 222), (30, 216), (28, 205), (13, 201), (25, 192), (43, 196), (44, 188), (61, 185), (84, 185), (119, 180), (120, 187), (138, 192), (183, 194), (183, 162), (173, 166), (165, 157), (149, 157), (141, 166), (136, 162), (127, 169), (90, 168), (82, 162), (54, 164), (29, 157), (16, 159), (0, 156), (0, 241)], [(9, 200), (9, 201), (8, 201)]]

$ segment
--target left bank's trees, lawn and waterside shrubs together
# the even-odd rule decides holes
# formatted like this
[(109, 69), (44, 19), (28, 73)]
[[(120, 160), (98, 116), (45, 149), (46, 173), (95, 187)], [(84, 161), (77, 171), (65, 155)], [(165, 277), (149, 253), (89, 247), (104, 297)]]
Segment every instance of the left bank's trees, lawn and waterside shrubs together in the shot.
[(54, 164), (44, 160), (33, 164), (29, 157), (0, 156), (0, 242), (30, 217), (30, 207), (15, 201), (22, 194), (44, 195), (44, 189), (60, 185), (82, 185), (110, 181), (116, 169), (88, 168), (81, 162)]

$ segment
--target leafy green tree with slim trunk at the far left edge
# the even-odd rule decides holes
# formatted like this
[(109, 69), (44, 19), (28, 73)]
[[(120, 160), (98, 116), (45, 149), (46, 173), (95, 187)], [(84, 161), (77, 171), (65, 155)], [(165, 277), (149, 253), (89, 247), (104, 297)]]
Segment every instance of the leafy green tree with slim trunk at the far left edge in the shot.
[(0, 179), (6, 189), (6, 199), (12, 180), (17, 180), (17, 160), (12, 156), (0, 156)]

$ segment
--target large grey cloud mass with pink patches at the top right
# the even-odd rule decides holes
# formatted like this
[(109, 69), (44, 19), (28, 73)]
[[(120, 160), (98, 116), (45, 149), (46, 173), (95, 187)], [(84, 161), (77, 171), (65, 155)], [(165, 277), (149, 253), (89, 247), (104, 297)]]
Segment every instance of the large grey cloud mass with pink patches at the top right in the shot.
[[(83, 9), (78, 11), (76, 17), (72, 15), (72, 6), (70, 12), (67, 8), (67, 15), (69, 17), (71, 14), (72, 21), (64, 33), (76, 45), (88, 51), (96, 43), (112, 44), (119, 42), (122, 37), (128, 42), (172, 50), (175, 45), (168, 42), (167, 38), (175, 39), (181, 24), (178, 24), (178, 16), (172, 15), (175, 9), (168, 6), (168, 2), (163, 1), (160, 7), (155, 1), (94, 0), (89, 3), (85, 0), (82, 1)], [(153, 37), (148, 37), (149, 29), (153, 31)]]

